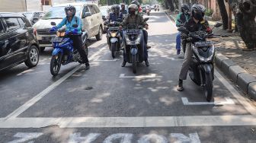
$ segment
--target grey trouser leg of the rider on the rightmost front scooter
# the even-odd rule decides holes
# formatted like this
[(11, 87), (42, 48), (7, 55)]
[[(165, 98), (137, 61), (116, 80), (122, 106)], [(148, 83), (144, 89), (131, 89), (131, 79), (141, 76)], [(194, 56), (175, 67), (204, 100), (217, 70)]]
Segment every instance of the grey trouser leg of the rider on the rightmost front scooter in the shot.
[(181, 66), (179, 79), (181, 79), (181, 80), (187, 79), (187, 72), (188, 72), (188, 68), (190, 66), (190, 62), (192, 60), (192, 56), (193, 56), (193, 52), (191, 49), (191, 43), (187, 43), (186, 44), (186, 52), (185, 52), (185, 56), (184, 56), (184, 61)]

